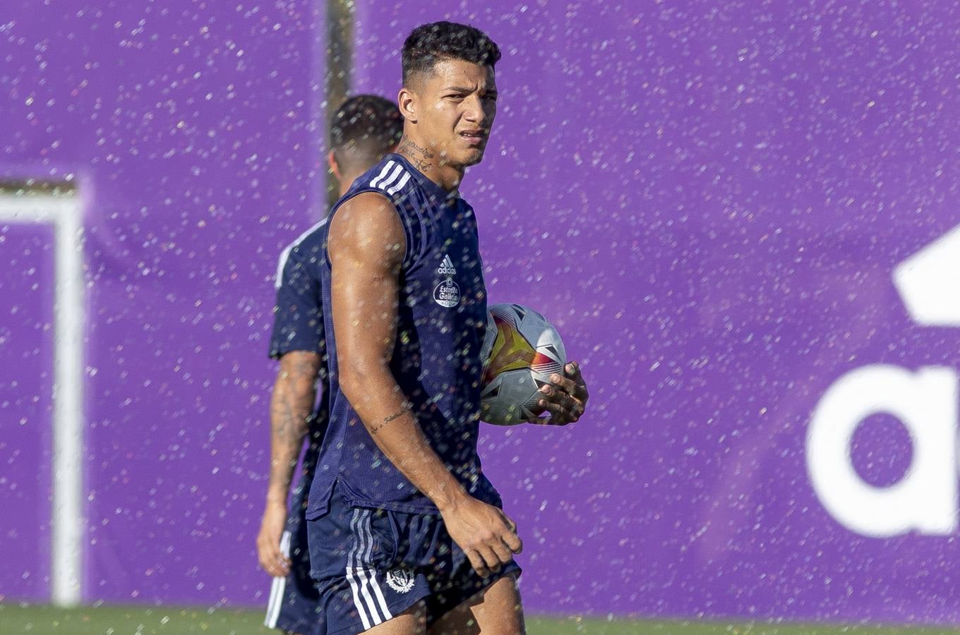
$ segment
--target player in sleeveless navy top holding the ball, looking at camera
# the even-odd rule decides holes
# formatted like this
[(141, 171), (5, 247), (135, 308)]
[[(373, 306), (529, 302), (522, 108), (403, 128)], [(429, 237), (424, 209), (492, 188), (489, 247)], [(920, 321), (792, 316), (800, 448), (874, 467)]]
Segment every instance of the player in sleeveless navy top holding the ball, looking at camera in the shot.
[[(496, 112), (496, 44), (449, 22), (403, 45), (403, 138), (330, 213), (330, 425), (307, 507), (329, 635), (523, 632), (516, 525), (477, 457), (487, 293), (458, 189)], [(541, 388), (579, 419), (577, 364)]]

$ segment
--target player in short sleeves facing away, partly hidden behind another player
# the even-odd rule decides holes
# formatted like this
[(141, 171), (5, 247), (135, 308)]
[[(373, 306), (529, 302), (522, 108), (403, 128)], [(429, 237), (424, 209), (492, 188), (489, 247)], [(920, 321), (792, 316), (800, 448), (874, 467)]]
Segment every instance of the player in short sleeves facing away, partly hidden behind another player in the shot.
[[(327, 161), (341, 196), (353, 179), (396, 149), (402, 118), (393, 102), (373, 95), (348, 99), (330, 125)], [(260, 565), (274, 578), (266, 625), (304, 635), (325, 632), (320, 596), (310, 577), (306, 544), (306, 495), (317, 465), (329, 412), (324, 360), (319, 225), (311, 227), (280, 256), (276, 271), (276, 314), (270, 356), (279, 359), (271, 400), (271, 469), (267, 505), (256, 548)], [(317, 384), (322, 397), (316, 404)], [(290, 510), (287, 495), (303, 438), (309, 443)]]

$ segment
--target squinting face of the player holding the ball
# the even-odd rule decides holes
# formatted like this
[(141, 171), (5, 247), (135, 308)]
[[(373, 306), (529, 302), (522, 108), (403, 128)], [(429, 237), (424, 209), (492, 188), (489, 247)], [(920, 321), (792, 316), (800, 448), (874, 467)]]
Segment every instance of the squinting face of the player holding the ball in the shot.
[(442, 59), (420, 82), (421, 138), (448, 164), (479, 163), (496, 116), (492, 67), (464, 59)]

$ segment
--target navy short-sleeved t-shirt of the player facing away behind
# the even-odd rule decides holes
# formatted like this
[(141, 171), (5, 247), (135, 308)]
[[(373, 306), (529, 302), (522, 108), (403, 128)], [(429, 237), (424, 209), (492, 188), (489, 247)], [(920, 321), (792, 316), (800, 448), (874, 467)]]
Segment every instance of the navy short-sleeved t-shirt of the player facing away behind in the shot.
[(320, 402), (308, 419), (307, 451), (303, 457), (300, 487), (309, 488), (320, 444), (329, 420), (329, 388), (326, 375), (324, 306), (321, 269), (324, 262), (321, 228), (326, 219), (310, 227), (280, 254), (276, 268), (276, 308), (270, 336), (270, 357), (277, 360), (290, 351), (321, 356)]

